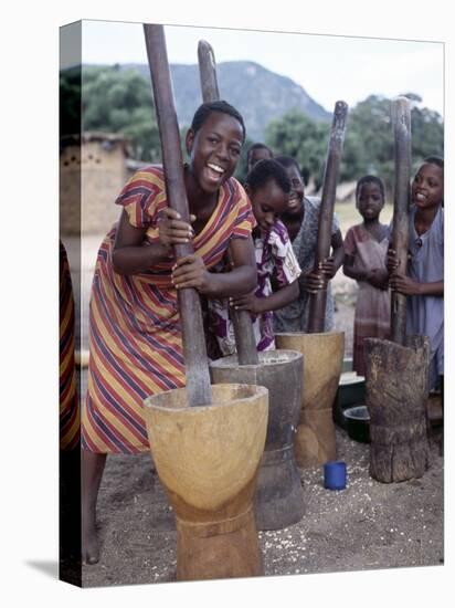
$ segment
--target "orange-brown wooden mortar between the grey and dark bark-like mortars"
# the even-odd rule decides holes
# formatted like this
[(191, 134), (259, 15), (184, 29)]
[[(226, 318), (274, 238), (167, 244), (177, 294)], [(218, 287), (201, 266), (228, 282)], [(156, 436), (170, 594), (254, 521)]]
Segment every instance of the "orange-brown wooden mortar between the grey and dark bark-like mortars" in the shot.
[(332, 403), (341, 375), (345, 334), (283, 333), (275, 335), (275, 342), (277, 348), (298, 350), (304, 357), (300, 420), (294, 439), (297, 464), (316, 467), (336, 460)]

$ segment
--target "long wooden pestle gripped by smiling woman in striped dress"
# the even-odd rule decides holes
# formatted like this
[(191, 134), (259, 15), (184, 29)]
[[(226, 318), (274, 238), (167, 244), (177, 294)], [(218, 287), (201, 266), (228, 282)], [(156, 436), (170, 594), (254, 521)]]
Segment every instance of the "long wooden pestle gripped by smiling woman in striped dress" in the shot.
[[(162, 25), (145, 24), (144, 32), (161, 139), (169, 206), (176, 209), (183, 220), (189, 222), (183, 159), (172, 96), (165, 30)], [(192, 253), (193, 248), (190, 243), (179, 244), (174, 247), (174, 251), (176, 256), (181, 258)], [(189, 405), (210, 405), (212, 402), (212, 391), (199, 294), (194, 289), (179, 290), (178, 302)]]

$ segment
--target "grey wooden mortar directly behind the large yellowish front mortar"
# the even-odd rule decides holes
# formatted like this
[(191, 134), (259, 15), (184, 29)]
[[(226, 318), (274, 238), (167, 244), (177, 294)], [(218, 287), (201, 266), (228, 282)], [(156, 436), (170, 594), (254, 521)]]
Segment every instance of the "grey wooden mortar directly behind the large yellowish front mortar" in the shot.
[(304, 494), (294, 455), (294, 434), (300, 417), (300, 353), (258, 353), (258, 365), (240, 365), (236, 355), (210, 364), (213, 384), (244, 382), (268, 389), (268, 424), (254, 495), (258, 530), (281, 530), (299, 522)]

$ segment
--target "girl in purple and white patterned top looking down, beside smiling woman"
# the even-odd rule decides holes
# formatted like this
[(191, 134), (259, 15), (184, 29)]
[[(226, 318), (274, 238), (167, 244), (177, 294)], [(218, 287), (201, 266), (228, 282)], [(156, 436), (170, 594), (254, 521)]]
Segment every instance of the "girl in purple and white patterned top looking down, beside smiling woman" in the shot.
[[(298, 297), (300, 269), (287, 230), (279, 221), (288, 205), (290, 182), (286, 170), (275, 160), (260, 160), (248, 172), (245, 190), (257, 227), (253, 230), (256, 252), (257, 287), (231, 298), (231, 305), (250, 311), (258, 350), (275, 348), (273, 312)], [(275, 291), (272, 291), (272, 279)], [(235, 338), (226, 302), (210, 303), (211, 322), (222, 355), (235, 352)]]

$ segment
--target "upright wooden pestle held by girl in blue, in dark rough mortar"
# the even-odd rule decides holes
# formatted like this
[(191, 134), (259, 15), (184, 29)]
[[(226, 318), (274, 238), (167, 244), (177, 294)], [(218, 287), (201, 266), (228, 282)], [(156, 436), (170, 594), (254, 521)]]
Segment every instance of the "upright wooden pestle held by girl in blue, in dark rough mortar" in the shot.
[[(395, 184), (393, 199), (392, 248), (396, 251), (398, 272), (406, 274), (409, 248), (409, 203), (411, 179), (411, 109), (406, 97), (392, 101), (395, 136)], [(406, 296), (392, 292), (391, 337), (404, 344), (406, 335)]]

